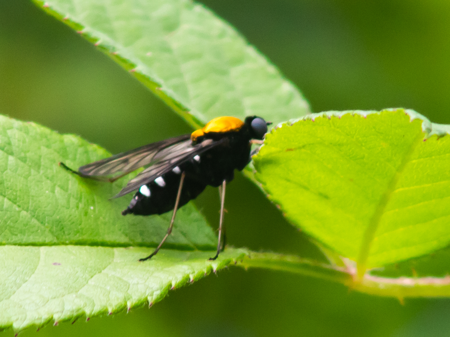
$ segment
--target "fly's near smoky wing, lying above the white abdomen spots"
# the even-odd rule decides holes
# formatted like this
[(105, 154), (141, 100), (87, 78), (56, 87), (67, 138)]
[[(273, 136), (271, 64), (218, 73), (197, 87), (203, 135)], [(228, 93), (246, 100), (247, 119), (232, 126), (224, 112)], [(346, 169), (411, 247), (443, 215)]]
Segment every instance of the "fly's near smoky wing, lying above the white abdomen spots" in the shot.
[(191, 140), (188, 140), (159, 151), (153, 158), (156, 161), (155, 164), (146, 168), (136, 177), (131, 179), (128, 184), (114, 196), (114, 198), (137, 190), (140, 186), (155, 180), (157, 177), (162, 176), (164, 173), (183, 164), (185, 161), (191, 160), (195, 155), (200, 155), (204, 151), (222, 145), (225, 142), (228, 142), (227, 138), (222, 138), (219, 141), (206, 139), (197, 145), (192, 145)]

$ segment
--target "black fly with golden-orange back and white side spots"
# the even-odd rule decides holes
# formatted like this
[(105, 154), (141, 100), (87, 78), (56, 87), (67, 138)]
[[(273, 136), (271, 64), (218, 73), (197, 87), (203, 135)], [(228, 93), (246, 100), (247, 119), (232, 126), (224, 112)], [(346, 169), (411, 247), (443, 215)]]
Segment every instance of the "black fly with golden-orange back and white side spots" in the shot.
[[(215, 260), (220, 253), (225, 186), (233, 180), (234, 169), (242, 170), (251, 158), (252, 142), (262, 140), (267, 123), (250, 116), (244, 121), (235, 117), (218, 117), (191, 134), (169, 138), (112, 157), (81, 166), (81, 177), (114, 182), (118, 178), (148, 166), (114, 198), (136, 191), (123, 215), (162, 214), (173, 209), (167, 234), (145, 261), (155, 255), (171, 234), (176, 210), (199, 195), (207, 185), (221, 186), (219, 238)], [(112, 175), (116, 176), (111, 177)]]

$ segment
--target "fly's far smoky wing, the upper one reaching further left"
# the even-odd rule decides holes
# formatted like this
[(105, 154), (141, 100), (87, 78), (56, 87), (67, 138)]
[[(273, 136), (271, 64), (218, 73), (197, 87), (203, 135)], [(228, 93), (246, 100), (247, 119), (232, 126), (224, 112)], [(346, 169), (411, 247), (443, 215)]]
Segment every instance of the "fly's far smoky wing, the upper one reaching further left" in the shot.
[(159, 152), (172, 148), (174, 144), (176, 146), (177, 143), (185, 142), (188, 139), (190, 139), (190, 134), (165, 139), (161, 142), (144, 145), (137, 149), (95, 161), (94, 163), (81, 166), (78, 170), (83, 177), (105, 177), (115, 173), (121, 173), (120, 176), (109, 179), (113, 181), (139, 167), (152, 163), (157, 160), (155, 157), (157, 157)]

